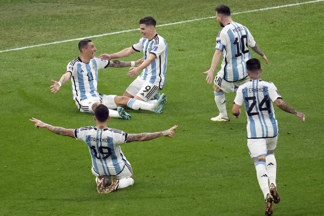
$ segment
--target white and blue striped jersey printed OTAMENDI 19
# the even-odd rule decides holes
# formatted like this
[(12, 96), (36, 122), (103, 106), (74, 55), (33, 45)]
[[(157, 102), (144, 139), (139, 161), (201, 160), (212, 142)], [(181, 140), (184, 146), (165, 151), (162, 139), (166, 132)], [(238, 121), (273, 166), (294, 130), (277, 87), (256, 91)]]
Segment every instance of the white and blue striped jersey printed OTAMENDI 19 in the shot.
[(74, 131), (74, 136), (87, 144), (94, 170), (106, 176), (118, 175), (124, 166), (130, 167), (119, 146), (126, 142), (127, 135), (117, 129), (97, 129), (92, 126)]

